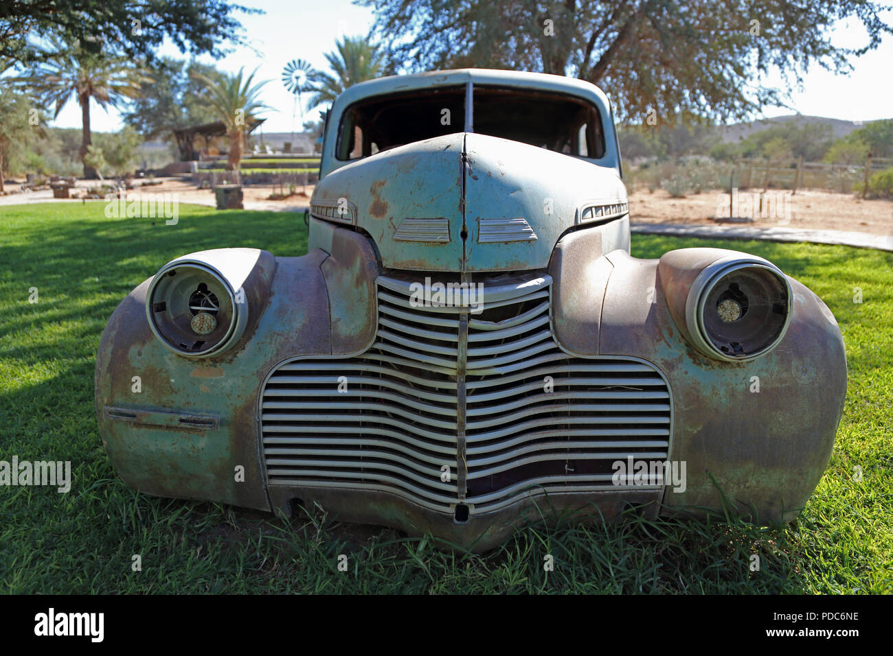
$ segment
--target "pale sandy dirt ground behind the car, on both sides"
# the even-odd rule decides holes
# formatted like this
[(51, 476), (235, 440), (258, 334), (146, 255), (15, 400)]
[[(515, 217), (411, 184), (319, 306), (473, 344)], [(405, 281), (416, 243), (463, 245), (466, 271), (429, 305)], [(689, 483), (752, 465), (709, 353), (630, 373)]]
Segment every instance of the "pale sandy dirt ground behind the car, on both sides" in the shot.
[[(91, 183), (79, 180), (72, 194), (80, 193), (89, 184)], [(277, 187), (276, 191), (278, 190)], [(273, 191), (273, 187), (245, 187), (243, 193), (246, 210), (303, 212), (310, 204), (313, 185), (307, 185), (306, 195), (301, 195), (304, 187), (297, 187), (298, 195), (278, 201), (268, 199)], [(180, 179), (162, 179), (160, 185), (137, 188), (134, 192), (176, 194), (179, 203), (214, 205), (214, 195), (210, 189), (197, 189), (195, 185)], [(823, 228), (866, 232), (873, 235), (893, 235), (893, 201), (864, 201), (852, 194), (812, 189), (800, 189), (793, 195), (789, 192), (770, 190), (769, 194), (763, 200), (767, 209), (761, 213), (758, 190), (739, 192), (735, 207), (737, 214), (753, 216), (755, 220), (731, 225)], [(51, 200), (53, 192), (46, 190), (0, 196), (0, 205)], [(719, 191), (692, 194), (685, 198), (671, 198), (663, 189), (656, 189), (653, 193), (649, 193), (647, 189), (637, 190), (630, 194), (630, 220), (633, 223), (717, 225), (709, 217), (717, 214), (728, 217), (729, 200), (728, 194)]]

